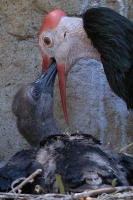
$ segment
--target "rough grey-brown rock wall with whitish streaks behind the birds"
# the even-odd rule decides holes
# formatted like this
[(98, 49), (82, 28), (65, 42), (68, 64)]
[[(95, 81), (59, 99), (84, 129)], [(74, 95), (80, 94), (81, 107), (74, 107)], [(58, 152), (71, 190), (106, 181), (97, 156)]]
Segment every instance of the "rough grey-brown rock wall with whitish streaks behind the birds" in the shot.
[[(22, 148), (29, 148), (18, 133), (11, 103), (16, 91), (23, 84), (33, 81), (41, 71), (42, 58), (37, 37), (44, 16), (57, 8), (63, 9), (69, 15), (80, 15), (94, 6), (107, 6), (133, 19), (132, 0), (1, 1), (0, 160), (8, 159)], [(85, 62), (89, 61), (77, 63), (67, 80), (69, 127), (64, 122), (56, 81), (57, 123), (63, 131), (83, 130), (115, 147), (125, 146), (133, 140), (133, 114), (128, 113), (125, 104), (111, 92), (102, 66), (94, 69), (92, 65), (89, 70), (86, 69), (86, 74), (82, 68)], [(81, 85), (79, 77), (82, 80)]]

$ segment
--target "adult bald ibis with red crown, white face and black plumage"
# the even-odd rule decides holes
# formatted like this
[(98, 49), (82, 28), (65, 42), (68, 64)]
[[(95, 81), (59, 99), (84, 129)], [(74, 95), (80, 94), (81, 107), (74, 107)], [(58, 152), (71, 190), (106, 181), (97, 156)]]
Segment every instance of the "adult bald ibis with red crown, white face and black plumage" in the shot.
[(62, 10), (54, 10), (44, 18), (38, 41), (42, 71), (53, 57), (57, 61), (67, 123), (65, 74), (80, 59), (101, 61), (111, 89), (125, 101), (128, 109), (133, 109), (132, 21), (105, 7), (91, 8), (82, 18), (67, 17)]

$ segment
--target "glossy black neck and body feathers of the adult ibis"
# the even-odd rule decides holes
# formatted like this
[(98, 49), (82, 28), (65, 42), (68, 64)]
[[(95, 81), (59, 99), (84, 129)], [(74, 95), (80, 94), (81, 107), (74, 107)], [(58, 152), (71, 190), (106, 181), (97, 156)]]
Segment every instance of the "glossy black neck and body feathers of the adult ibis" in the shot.
[(92, 8), (84, 29), (99, 51), (111, 89), (133, 109), (133, 22), (109, 8)]

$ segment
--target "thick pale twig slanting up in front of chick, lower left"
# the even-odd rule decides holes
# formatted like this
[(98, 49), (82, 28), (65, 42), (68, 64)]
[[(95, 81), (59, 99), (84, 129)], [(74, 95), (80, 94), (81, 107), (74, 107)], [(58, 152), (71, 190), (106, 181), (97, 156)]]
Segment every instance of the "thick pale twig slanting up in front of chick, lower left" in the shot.
[(15, 192), (18, 189), (21, 189), (24, 185), (26, 185), (26, 183), (28, 183), (31, 179), (34, 179), (34, 177), (37, 176), (38, 174), (40, 174), (41, 172), (42, 172), (42, 169), (37, 169), (34, 173), (32, 173), (30, 176), (28, 176), (22, 183), (20, 183), (18, 186), (13, 188), (13, 190), (11, 190), (10, 192)]

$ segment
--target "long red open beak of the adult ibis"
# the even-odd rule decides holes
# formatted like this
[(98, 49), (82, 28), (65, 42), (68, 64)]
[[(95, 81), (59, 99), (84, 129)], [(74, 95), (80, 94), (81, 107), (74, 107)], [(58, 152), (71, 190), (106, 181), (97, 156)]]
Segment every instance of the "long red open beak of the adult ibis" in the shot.
[[(47, 55), (43, 55), (42, 72), (44, 72), (49, 67), (52, 60), (53, 58), (49, 58)], [(57, 65), (57, 72), (58, 72), (58, 78), (59, 78), (59, 88), (60, 88), (60, 96), (61, 96), (63, 113), (64, 113), (66, 123), (69, 124), (67, 106), (66, 106), (65, 64), (56, 63), (56, 65)]]

